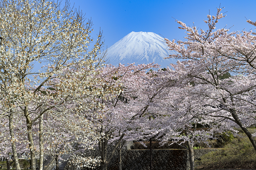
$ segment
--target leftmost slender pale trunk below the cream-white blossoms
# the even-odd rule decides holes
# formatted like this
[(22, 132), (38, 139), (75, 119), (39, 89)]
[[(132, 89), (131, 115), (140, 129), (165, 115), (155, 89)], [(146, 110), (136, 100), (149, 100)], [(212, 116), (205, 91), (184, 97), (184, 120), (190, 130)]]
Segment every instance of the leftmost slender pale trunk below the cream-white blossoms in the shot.
[[(16, 170), (20, 170), (18, 154), (17, 154), (16, 144), (15, 144), (16, 140), (15, 140), (15, 137), (14, 137), (13, 110), (11, 109), (10, 111), (11, 112), (10, 112), (10, 115), (9, 115), (9, 129), (10, 129), (11, 143), (12, 143), (12, 154), (13, 154), (13, 158), (14, 158), (13, 161), (15, 163)], [(9, 166), (9, 168), (10, 168), (10, 166)]]

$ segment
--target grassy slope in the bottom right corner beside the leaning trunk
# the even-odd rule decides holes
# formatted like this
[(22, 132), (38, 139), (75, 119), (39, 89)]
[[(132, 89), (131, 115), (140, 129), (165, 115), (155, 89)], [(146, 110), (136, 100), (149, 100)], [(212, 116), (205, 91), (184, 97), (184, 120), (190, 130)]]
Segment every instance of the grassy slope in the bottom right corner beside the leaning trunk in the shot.
[(203, 155), (196, 161), (195, 169), (256, 169), (256, 151), (248, 137), (241, 133), (227, 142), (222, 150)]

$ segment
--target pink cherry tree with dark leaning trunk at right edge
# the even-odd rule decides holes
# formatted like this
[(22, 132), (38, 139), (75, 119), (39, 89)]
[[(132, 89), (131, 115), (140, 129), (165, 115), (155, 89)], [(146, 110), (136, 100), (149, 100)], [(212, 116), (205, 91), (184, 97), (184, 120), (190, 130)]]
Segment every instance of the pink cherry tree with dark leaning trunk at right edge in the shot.
[[(218, 20), (225, 17), (221, 10), (218, 8), (216, 16), (207, 15), (207, 31), (177, 21), (186, 31), (187, 41), (166, 39), (166, 43), (179, 53), (170, 57), (183, 59), (172, 64), (173, 68), (193, 83), (191, 95), (205, 103), (200, 116), (233, 122), (256, 150), (255, 139), (247, 130), (255, 125), (255, 35), (251, 31), (228, 33), (226, 28), (214, 31)], [(226, 74), (231, 76), (223, 79)]]

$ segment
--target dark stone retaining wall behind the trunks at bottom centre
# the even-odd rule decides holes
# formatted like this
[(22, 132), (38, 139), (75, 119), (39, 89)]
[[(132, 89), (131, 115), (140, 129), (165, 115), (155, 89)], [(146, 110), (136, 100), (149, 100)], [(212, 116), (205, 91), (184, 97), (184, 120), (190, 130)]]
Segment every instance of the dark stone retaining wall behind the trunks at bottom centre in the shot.
[[(110, 153), (110, 150), (108, 152)], [(195, 159), (217, 149), (196, 149), (194, 150)], [(99, 151), (91, 150), (86, 156), (98, 156)], [(153, 170), (189, 170), (189, 154), (186, 149), (153, 149)], [(150, 150), (133, 149), (129, 145), (122, 151), (123, 170), (150, 170)], [(70, 166), (70, 167), (69, 167)], [(76, 170), (70, 163), (67, 163), (64, 170)], [(84, 170), (91, 170), (85, 168)], [(100, 170), (98, 166), (96, 170)], [(108, 165), (108, 170), (118, 170), (117, 152)]]

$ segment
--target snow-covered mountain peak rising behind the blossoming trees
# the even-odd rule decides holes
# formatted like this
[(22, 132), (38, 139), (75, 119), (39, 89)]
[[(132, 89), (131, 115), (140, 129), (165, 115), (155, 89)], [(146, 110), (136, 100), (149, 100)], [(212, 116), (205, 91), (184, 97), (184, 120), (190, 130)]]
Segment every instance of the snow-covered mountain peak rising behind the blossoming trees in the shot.
[(117, 66), (119, 63), (148, 64), (158, 63), (161, 67), (176, 63), (174, 59), (164, 59), (176, 51), (168, 50), (163, 37), (154, 32), (131, 32), (117, 41), (108, 49), (109, 63)]

